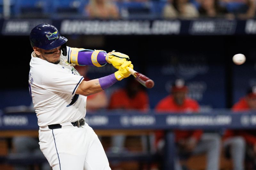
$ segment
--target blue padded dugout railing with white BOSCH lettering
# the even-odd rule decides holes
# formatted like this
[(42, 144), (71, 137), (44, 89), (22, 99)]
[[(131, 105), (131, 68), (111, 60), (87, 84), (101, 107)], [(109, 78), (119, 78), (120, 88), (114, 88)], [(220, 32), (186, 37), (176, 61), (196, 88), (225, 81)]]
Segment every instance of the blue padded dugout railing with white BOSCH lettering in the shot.
[[(34, 112), (31, 113), (9, 113), (0, 117), (0, 137), (10, 138), (15, 135), (30, 136), (38, 135), (37, 118)], [(141, 163), (162, 161), (163, 169), (173, 169), (175, 158), (174, 134), (172, 129), (204, 129), (208, 131), (222, 131), (223, 129), (255, 129), (256, 113), (244, 112), (233, 113), (231, 111), (212, 111), (200, 114), (166, 114), (150, 112), (141, 114), (139, 112), (102, 112), (87, 114), (86, 122), (100, 135), (108, 135), (108, 132), (127, 131), (129, 134), (154, 133), (157, 129), (165, 130), (165, 149), (163, 157), (157, 154), (145, 152), (138, 154), (110, 154), (108, 158), (112, 160), (138, 160)], [(112, 133), (112, 132), (111, 132)], [(36, 161), (37, 160), (37, 161)], [(44, 158), (29, 159), (25, 155), (9, 154), (2, 158), (7, 164), (15, 163), (35, 163), (45, 160)]]

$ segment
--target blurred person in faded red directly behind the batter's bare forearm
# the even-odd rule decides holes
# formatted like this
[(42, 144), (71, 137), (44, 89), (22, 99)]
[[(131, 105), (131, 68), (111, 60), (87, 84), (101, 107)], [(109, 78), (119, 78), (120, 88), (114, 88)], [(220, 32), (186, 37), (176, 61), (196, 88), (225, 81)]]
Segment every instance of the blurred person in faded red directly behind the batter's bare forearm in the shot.
[[(89, 69), (88, 66), (76, 65), (75, 69), (79, 72), (81, 76), (84, 77), (84, 81), (90, 80), (90, 78), (87, 77), (87, 72)], [(86, 100), (87, 111), (89, 112), (97, 111), (100, 109), (105, 109), (107, 107), (108, 107), (108, 98), (104, 91), (87, 96), (87, 100)]]

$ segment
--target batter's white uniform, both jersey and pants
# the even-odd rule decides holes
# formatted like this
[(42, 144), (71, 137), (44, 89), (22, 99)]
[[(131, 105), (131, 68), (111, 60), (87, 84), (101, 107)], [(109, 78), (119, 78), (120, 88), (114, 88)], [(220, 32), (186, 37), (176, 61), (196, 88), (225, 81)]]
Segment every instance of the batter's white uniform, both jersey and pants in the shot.
[[(67, 49), (59, 64), (31, 54), (29, 87), (40, 127), (40, 149), (53, 170), (110, 170), (93, 129), (87, 123), (82, 127), (70, 123), (85, 117), (86, 97), (75, 94), (84, 78), (65, 62), (71, 54)], [(52, 124), (61, 128), (47, 126)]]

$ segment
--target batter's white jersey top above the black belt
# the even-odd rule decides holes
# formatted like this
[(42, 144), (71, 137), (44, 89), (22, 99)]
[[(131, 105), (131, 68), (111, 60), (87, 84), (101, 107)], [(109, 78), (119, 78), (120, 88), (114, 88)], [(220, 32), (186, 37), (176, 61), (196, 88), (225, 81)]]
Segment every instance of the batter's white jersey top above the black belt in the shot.
[(67, 49), (68, 55), (61, 53), (59, 64), (42, 60), (35, 52), (31, 54), (29, 90), (40, 129), (85, 117), (86, 96), (75, 94), (84, 78), (63, 62), (70, 59), (70, 48)]

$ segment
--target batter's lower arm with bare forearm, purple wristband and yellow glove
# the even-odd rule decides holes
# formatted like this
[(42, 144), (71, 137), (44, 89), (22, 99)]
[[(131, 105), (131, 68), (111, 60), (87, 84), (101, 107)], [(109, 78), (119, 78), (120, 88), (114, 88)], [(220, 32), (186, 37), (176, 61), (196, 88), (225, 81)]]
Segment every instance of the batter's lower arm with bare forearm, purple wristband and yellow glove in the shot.
[(82, 81), (76, 90), (76, 94), (89, 96), (105, 90), (118, 80), (122, 80), (123, 78), (130, 76), (130, 72), (126, 69), (128, 66), (133, 68), (132, 62), (124, 61), (124, 63), (119, 67), (118, 71), (113, 74), (90, 81)]

